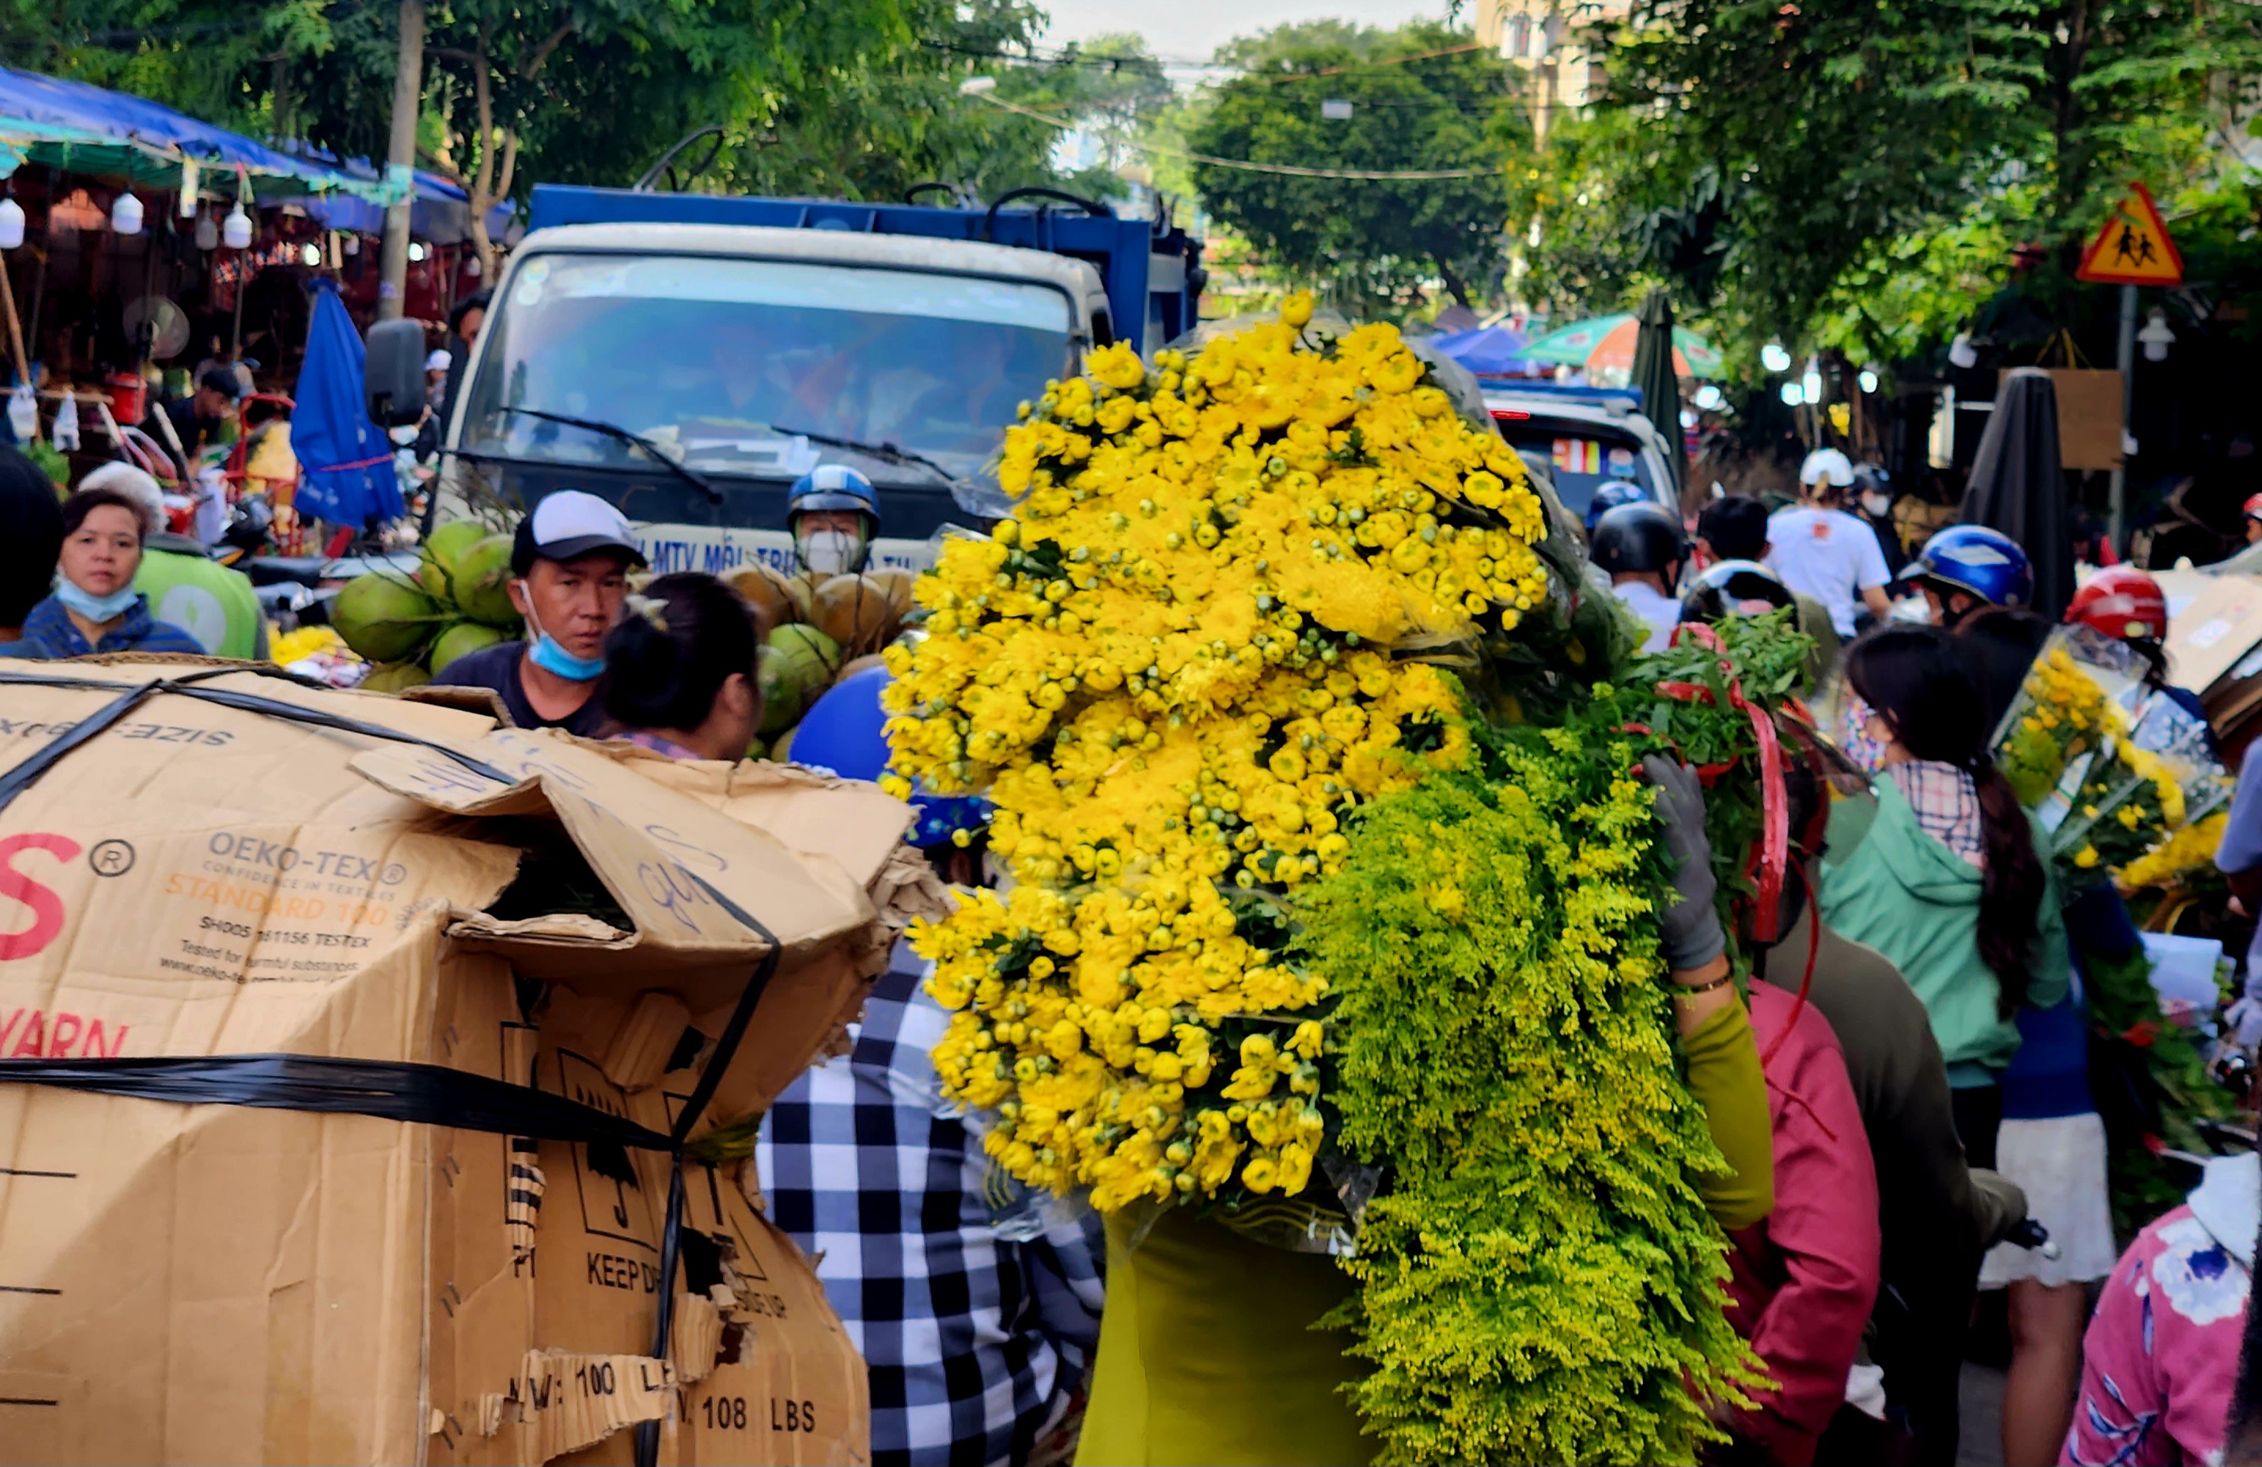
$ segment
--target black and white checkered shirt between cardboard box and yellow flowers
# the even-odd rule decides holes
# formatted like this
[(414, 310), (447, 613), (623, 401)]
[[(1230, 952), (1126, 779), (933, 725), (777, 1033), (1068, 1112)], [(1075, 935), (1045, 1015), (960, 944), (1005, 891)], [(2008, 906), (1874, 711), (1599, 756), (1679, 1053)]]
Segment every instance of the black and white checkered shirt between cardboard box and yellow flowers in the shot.
[(851, 1053), (794, 1080), (756, 1146), (769, 1216), (819, 1259), (871, 1370), (875, 1467), (1027, 1462), (1099, 1343), (1099, 1218), (1029, 1196), (934, 1076), (948, 1017), (896, 949)]

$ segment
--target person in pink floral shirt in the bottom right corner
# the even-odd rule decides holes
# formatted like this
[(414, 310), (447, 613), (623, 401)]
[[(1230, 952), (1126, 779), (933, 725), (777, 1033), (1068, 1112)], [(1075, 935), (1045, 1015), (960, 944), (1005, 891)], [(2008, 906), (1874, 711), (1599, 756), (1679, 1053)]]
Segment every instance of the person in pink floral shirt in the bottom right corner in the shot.
[(2208, 1162), (2190, 1200), (2135, 1234), (2083, 1338), (2067, 1467), (2219, 1462), (2253, 1288), (2262, 1169)]

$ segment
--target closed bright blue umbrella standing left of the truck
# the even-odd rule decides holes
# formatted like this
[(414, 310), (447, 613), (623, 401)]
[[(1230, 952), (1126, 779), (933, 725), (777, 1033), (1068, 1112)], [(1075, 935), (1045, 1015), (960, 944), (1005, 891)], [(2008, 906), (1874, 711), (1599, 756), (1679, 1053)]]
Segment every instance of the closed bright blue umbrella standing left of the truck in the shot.
[(299, 454), (299, 513), (355, 529), (400, 518), (394, 445), (369, 420), (362, 339), (330, 280), (314, 283), (314, 321), (294, 396), (290, 445)]

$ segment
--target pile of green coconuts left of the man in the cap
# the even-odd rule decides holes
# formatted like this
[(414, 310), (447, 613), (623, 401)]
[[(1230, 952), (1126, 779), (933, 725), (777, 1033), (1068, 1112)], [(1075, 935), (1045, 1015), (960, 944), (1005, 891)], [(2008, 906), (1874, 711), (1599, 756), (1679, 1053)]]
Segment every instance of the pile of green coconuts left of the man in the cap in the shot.
[(375, 665), (362, 687), (400, 692), (464, 653), (520, 635), (509, 583), (511, 531), (450, 520), (423, 542), (414, 574), (380, 567), (346, 581), (330, 626)]

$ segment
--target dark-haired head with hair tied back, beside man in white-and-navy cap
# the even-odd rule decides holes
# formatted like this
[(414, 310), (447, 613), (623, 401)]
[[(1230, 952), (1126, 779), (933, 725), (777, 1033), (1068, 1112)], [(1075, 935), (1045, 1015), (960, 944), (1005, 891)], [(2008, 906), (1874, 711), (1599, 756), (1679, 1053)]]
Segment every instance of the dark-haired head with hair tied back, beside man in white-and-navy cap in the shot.
[(753, 608), (715, 576), (679, 572), (631, 594), (604, 637), (618, 737), (672, 759), (744, 759), (762, 723), (760, 642)]

